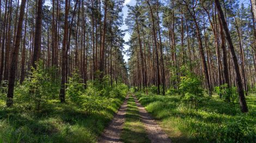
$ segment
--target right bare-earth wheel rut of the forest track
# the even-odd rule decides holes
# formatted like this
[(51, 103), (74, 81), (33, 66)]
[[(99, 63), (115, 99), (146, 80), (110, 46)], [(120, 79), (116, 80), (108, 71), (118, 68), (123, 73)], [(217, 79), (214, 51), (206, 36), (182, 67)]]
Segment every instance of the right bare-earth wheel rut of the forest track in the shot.
[(157, 125), (156, 121), (149, 115), (145, 108), (138, 102), (138, 99), (133, 95), (136, 105), (139, 108), (139, 114), (141, 116), (141, 122), (144, 124), (144, 128), (148, 133), (148, 138), (151, 142), (170, 143), (171, 140), (168, 135), (162, 131), (162, 128)]

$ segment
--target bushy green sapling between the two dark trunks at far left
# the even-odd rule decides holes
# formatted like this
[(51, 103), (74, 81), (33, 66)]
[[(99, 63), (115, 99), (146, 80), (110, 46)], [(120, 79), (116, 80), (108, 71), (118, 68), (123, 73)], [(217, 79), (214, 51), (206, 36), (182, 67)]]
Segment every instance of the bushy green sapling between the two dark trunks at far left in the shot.
[(48, 100), (58, 95), (59, 85), (52, 80), (51, 74), (44, 68), (42, 61), (36, 63), (36, 69), (32, 68), (31, 75), (25, 79), (22, 85), (17, 83), (15, 97), (21, 106), (34, 109), (39, 112)]

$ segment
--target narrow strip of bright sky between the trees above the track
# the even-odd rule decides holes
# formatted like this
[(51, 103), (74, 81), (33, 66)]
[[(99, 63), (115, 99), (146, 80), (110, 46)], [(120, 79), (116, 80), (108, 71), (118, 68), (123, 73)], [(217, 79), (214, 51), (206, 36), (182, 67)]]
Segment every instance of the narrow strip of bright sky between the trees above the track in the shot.
[[(123, 18), (124, 18), (124, 20), (125, 20), (125, 18), (127, 17), (127, 12), (128, 12), (128, 8), (127, 8), (126, 4), (135, 5), (135, 4), (136, 4), (136, 0), (125, 0), (125, 2), (124, 2), (124, 8), (123, 8), (123, 14), (124, 14), (124, 17), (123, 17)], [(125, 23), (123, 24), (123, 26), (121, 27), (121, 29), (122, 29), (122, 30), (127, 29), (127, 26), (125, 25)], [(125, 36), (124, 36), (124, 40), (125, 40), (125, 42), (127, 42), (127, 41), (129, 41), (129, 39), (130, 39), (130, 34), (129, 34), (129, 32), (126, 31)], [(129, 46), (125, 44), (124, 48), (125, 48), (125, 50), (126, 50), (126, 49), (129, 48)], [(124, 54), (124, 59), (125, 59), (125, 61), (127, 62), (128, 59), (129, 59), (129, 56), (127, 56), (127, 55)]]

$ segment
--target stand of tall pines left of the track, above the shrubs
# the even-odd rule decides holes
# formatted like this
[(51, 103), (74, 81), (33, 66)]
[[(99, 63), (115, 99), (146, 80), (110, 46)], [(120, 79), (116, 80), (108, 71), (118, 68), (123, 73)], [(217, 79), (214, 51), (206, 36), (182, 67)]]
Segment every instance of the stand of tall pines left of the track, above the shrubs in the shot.
[(60, 102), (65, 102), (65, 85), (75, 70), (82, 75), (85, 86), (88, 80), (107, 75), (111, 76), (113, 86), (113, 80), (128, 84), (123, 59), (124, 33), (119, 29), (123, 3), (1, 1), (0, 85), (8, 86), (7, 106), (13, 104), (17, 81), (23, 84), (26, 77), (31, 77), (28, 75), (36, 69), (38, 61), (60, 85)]

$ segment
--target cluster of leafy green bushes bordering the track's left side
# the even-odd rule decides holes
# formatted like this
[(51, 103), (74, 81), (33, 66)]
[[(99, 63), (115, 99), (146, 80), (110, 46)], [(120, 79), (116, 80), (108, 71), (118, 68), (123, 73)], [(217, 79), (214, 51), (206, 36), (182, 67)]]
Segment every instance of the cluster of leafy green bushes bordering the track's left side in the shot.
[(69, 78), (66, 95), (86, 114), (100, 112), (109, 106), (109, 101), (123, 98), (128, 91), (128, 87), (122, 83), (111, 88), (109, 82), (109, 76), (105, 76), (102, 80), (88, 81), (84, 89), (81, 76), (75, 70)]

